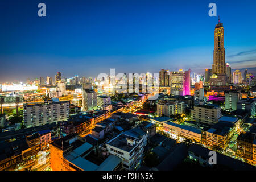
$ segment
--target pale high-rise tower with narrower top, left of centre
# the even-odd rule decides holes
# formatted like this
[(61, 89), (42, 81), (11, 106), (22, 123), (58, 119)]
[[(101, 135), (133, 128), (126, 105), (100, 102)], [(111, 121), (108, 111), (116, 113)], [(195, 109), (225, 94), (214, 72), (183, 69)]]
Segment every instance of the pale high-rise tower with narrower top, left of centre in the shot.
[(97, 93), (92, 89), (92, 84), (82, 84), (82, 110), (93, 110), (97, 106)]

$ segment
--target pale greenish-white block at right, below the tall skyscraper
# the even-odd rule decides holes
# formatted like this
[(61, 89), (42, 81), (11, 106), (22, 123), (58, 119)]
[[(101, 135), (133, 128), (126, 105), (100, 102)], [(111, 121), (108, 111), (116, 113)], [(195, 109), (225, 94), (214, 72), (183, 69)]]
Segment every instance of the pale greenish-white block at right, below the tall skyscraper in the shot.
[(225, 109), (228, 111), (237, 110), (237, 101), (242, 97), (240, 91), (225, 92)]

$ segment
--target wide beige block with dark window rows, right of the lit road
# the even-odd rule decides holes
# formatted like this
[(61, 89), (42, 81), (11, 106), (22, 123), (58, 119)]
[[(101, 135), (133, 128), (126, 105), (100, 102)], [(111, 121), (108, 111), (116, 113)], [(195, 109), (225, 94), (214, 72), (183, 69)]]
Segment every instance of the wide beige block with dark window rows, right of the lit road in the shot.
[(221, 118), (221, 107), (214, 104), (196, 105), (191, 111), (192, 120), (213, 125)]

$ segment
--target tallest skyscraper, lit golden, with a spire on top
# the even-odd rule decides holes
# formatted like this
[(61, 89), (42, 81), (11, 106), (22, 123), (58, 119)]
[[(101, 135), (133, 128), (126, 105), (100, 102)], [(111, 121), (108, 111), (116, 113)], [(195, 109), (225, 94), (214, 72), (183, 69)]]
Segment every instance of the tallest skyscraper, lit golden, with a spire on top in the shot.
[(224, 27), (218, 19), (214, 31), (214, 51), (212, 72), (214, 74), (226, 74), (225, 48), (224, 48)]

